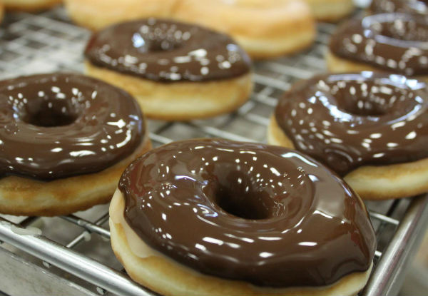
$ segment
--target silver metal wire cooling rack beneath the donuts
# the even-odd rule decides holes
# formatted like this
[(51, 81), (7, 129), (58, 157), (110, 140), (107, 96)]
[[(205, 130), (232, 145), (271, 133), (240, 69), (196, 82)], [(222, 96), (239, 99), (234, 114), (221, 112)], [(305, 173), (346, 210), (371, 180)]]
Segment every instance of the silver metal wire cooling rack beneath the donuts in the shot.
[[(282, 92), (297, 79), (325, 71), (323, 56), (333, 29), (320, 24), (314, 46), (300, 55), (256, 63), (253, 95), (235, 113), (190, 122), (148, 121), (153, 145), (198, 137), (264, 142)], [(0, 78), (82, 72), (89, 35), (71, 24), (61, 7), (37, 15), (9, 14), (0, 29)], [(378, 248), (361, 294), (397, 295), (428, 222), (428, 197), (367, 206)], [(56, 218), (1, 216), (0, 295), (155, 295), (130, 280), (114, 257), (107, 221), (107, 205)]]

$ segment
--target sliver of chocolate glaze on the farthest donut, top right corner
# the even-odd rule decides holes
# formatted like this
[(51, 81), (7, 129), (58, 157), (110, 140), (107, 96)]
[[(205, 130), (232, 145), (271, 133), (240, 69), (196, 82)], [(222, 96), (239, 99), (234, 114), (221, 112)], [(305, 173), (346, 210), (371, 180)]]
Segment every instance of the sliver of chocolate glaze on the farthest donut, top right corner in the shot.
[(372, 0), (370, 11), (402, 12), (407, 14), (428, 14), (427, 0)]

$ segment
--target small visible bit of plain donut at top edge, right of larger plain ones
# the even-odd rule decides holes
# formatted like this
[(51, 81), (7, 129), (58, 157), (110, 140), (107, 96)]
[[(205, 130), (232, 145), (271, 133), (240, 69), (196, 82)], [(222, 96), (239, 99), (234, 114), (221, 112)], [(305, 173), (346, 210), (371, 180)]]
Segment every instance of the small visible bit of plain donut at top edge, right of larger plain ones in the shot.
[(352, 0), (305, 0), (318, 21), (340, 21), (354, 11)]

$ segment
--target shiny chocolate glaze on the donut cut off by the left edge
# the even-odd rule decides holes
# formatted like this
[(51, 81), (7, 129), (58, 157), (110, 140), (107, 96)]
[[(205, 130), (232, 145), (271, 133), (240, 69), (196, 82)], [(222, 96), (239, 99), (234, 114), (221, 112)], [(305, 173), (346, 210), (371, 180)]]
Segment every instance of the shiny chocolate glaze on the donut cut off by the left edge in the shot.
[(119, 88), (77, 74), (0, 82), (0, 176), (53, 180), (94, 173), (131, 155), (145, 126)]

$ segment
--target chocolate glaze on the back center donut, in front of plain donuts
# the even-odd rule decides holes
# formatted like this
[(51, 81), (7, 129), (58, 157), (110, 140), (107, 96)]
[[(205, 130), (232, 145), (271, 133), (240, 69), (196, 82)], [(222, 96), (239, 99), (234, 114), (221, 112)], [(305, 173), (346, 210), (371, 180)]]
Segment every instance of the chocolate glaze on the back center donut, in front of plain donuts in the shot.
[(210, 81), (250, 71), (250, 58), (230, 37), (164, 19), (116, 24), (88, 42), (93, 65), (153, 81)]

